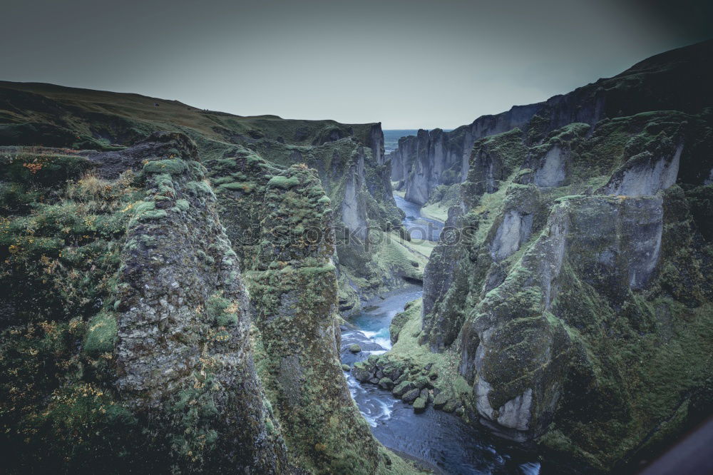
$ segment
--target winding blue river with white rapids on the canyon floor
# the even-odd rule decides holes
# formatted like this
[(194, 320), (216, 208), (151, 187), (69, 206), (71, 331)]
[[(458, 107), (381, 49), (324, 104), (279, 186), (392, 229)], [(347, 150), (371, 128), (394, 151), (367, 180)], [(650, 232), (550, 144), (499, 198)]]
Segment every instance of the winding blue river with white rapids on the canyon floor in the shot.
[[(429, 233), (437, 240), (443, 223), (421, 216), (420, 207), (394, 195), (396, 205), (406, 213), (404, 225), (412, 232)], [(414, 235), (414, 237), (420, 237)], [(356, 328), (342, 328), (342, 362), (352, 366), (369, 354), (381, 354), (391, 348), (389, 324), (404, 305), (423, 294), (420, 286), (391, 292), (379, 298), (350, 322)], [(352, 354), (347, 349), (358, 343), (362, 351)], [(391, 392), (361, 384), (345, 372), (352, 397), (359, 406), (371, 431), (381, 444), (405, 456), (420, 461), (442, 474), (528, 474), (540, 471), (536, 457), (518, 446), (493, 439), (464, 423), (453, 414), (436, 411), (429, 406), (416, 414), (414, 409), (396, 399)]]

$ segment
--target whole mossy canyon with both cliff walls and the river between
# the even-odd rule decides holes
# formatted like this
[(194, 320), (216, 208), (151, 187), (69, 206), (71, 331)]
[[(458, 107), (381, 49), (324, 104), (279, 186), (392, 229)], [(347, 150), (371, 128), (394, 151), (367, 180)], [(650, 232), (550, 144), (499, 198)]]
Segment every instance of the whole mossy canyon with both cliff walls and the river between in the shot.
[(711, 57), (398, 141), (1, 81), (7, 473), (637, 471), (712, 415)]

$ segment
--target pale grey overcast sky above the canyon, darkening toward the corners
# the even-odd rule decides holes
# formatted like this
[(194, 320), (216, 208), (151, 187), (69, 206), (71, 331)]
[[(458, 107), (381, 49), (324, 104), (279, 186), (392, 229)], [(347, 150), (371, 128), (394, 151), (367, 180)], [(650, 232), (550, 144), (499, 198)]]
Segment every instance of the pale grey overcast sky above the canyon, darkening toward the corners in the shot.
[(713, 37), (710, 0), (3, 0), (0, 79), (455, 128)]

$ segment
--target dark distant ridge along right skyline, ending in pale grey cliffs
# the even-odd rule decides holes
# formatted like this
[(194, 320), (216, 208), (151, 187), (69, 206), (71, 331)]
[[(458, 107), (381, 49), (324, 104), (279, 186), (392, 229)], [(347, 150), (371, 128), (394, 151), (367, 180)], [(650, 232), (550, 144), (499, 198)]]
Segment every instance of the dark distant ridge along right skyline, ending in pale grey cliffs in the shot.
[[(515, 106), (495, 116), (482, 116), (450, 132), (419, 131), (399, 139), (391, 160), (391, 180), (406, 191), (406, 199), (424, 204), (437, 185), (461, 183), (478, 139), (521, 128), (528, 143), (538, 143), (570, 123), (594, 126), (604, 118), (645, 111), (697, 113), (710, 105), (713, 73), (705, 64), (712, 42), (668, 51), (637, 63), (627, 71), (600, 79), (543, 103)], [(675, 86), (672, 86), (674, 84)], [(675, 91), (672, 90), (675, 88)], [(493, 170), (497, 173), (498, 170)]]

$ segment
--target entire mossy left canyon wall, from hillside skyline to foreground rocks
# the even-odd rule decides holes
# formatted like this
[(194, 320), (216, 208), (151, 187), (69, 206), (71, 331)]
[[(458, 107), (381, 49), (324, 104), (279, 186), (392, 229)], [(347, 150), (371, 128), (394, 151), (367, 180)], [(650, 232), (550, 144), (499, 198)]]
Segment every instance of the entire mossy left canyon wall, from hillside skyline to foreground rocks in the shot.
[[(379, 124), (3, 86), (12, 471), (411, 471), (337, 353), (339, 302), (359, 298), (338, 276), (389, 285), (335, 265), (351, 244), (333, 239), (401, 218)], [(371, 262), (359, 246), (350, 264)]]

